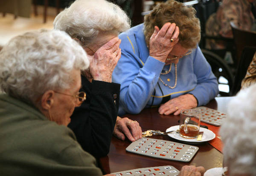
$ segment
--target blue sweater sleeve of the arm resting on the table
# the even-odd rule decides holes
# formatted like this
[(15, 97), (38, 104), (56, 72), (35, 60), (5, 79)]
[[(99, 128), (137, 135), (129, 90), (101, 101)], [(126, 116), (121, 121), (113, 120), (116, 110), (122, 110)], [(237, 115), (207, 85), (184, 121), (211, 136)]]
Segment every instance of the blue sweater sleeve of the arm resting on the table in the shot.
[(198, 106), (206, 105), (218, 95), (218, 81), (199, 47), (196, 49), (193, 65), (194, 74), (197, 77), (197, 85), (189, 93), (198, 99)]

